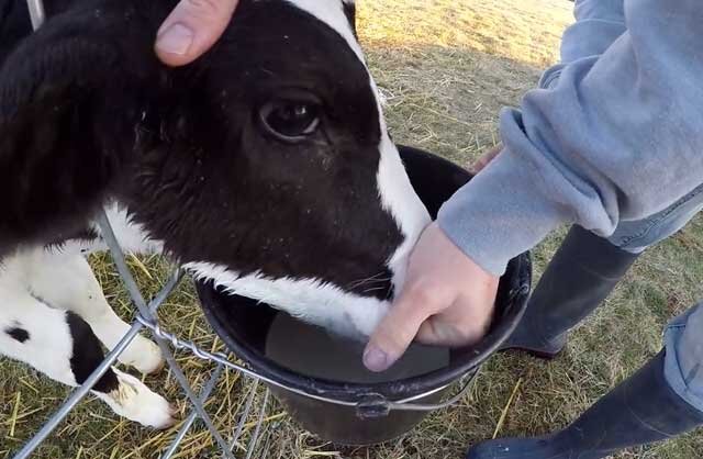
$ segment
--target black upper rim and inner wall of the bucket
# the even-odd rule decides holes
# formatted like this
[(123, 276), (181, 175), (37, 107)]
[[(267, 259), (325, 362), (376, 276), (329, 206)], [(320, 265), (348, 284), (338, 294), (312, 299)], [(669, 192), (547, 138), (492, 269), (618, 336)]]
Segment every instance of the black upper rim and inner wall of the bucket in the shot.
[[(456, 164), (431, 153), (401, 147), (401, 156), (406, 164), (417, 167), (431, 166), (443, 169), (448, 176), (462, 177), (468, 182), (471, 175)], [(412, 176), (409, 168), (409, 175)], [(411, 177), (412, 178), (412, 177)], [(422, 195), (421, 195), (422, 198)], [(348, 383), (324, 378), (313, 378), (292, 371), (269, 359), (250, 343), (232, 336), (227, 329), (226, 306), (223, 303), (256, 303), (258, 307), (270, 307), (239, 295), (225, 293), (208, 280), (197, 280), (196, 288), (207, 321), (230, 351), (244, 361), (254, 372), (302, 391), (313, 398), (335, 399), (345, 403), (358, 403), (369, 395), (382, 395), (389, 401), (413, 401), (446, 389), (472, 371), (478, 371), (501, 345), (510, 337), (527, 306), (532, 286), (532, 256), (524, 253), (512, 259), (501, 277), (496, 299), (496, 315), (489, 334), (477, 345), (451, 350), (451, 362), (425, 374), (381, 383)], [(275, 309), (272, 309), (275, 310)], [(275, 310), (278, 311), (278, 310)], [(455, 361), (456, 356), (456, 361)]]

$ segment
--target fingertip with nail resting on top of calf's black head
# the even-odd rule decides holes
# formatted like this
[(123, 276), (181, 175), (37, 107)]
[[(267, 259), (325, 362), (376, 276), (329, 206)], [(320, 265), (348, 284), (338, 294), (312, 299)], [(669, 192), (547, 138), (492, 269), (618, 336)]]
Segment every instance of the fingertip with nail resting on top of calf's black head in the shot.
[(156, 54), (177, 67), (202, 56), (220, 38), (239, 0), (181, 0), (158, 31)]

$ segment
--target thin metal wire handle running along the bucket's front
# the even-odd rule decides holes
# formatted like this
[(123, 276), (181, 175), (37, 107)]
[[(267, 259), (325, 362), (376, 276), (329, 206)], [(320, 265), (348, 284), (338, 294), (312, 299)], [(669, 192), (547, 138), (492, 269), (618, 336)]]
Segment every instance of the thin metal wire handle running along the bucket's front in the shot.
[(361, 402), (347, 402), (344, 400), (331, 399), (323, 395), (312, 394), (312, 393), (302, 391), (300, 389), (288, 387), (287, 384), (272, 380), (271, 378), (259, 374), (249, 368), (246, 368), (242, 365), (230, 361), (230, 356), (227, 356), (224, 352), (209, 352), (207, 350), (199, 348), (192, 342), (179, 339), (177, 336), (164, 331), (158, 323), (152, 322), (143, 317), (141, 314), (136, 316), (136, 320), (146, 328), (150, 329), (152, 333), (154, 333), (156, 336), (170, 343), (170, 345), (174, 346), (175, 349), (188, 350), (192, 352), (196, 357), (202, 360), (223, 365), (224, 367), (227, 367), (235, 371), (239, 371), (241, 373), (249, 378), (266, 382), (267, 384), (274, 385), (279, 389), (283, 389), (286, 391), (292, 392), (297, 395), (304, 396), (306, 399), (316, 400), (319, 402), (332, 403), (334, 405), (339, 405), (339, 406), (354, 407), (357, 410), (357, 415), (361, 418), (384, 417), (391, 411), (435, 411), (435, 410), (443, 410), (451, 405), (455, 405), (471, 389), (471, 387), (473, 385), (473, 381), (476, 380), (476, 376), (478, 374), (478, 371), (479, 371), (477, 369), (477, 371), (473, 372), (473, 374), (471, 374), (471, 377), (469, 378), (469, 381), (461, 388), (461, 390), (455, 396), (447, 400), (446, 402), (438, 403), (438, 404), (420, 404), (420, 403), (412, 403), (412, 402), (419, 399), (429, 396), (439, 391), (443, 391), (444, 389), (447, 388), (447, 385), (434, 389), (429, 392), (415, 395), (413, 398), (402, 400), (399, 402), (391, 402), (381, 394), (369, 394)]

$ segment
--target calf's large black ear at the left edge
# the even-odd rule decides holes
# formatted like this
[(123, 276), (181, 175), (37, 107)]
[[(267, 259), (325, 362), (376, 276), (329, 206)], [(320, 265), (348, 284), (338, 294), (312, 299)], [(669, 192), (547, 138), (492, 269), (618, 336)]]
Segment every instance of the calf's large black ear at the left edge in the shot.
[(83, 224), (155, 142), (168, 78), (153, 43), (167, 12), (86, 3), (48, 20), (0, 68), (0, 256)]

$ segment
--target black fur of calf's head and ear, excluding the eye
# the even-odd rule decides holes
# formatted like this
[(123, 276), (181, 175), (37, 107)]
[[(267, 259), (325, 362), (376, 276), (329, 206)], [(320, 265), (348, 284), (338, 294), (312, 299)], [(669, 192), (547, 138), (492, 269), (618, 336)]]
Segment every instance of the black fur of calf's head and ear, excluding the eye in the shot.
[[(403, 236), (378, 197), (379, 113), (346, 42), (287, 2), (243, 0), (210, 53), (169, 69), (153, 42), (175, 3), (48, 0), (47, 23), (0, 56), (0, 256), (86, 227), (115, 198), (183, 262), (342, 288), (386, 271)], [(258, 117), (290, 98), (320, 104), (298, 144)]]

